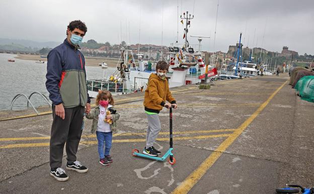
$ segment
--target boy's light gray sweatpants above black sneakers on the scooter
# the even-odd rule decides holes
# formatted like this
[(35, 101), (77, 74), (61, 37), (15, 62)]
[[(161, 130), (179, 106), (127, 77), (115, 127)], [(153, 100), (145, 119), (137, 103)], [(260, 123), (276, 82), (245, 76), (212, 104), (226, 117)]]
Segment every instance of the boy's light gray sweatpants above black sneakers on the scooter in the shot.
[(158, 114), (147, 114), (148, 128), (146, 134), (146, 148), (153, 146), (155, 140), (161, 131), (162, 127)]

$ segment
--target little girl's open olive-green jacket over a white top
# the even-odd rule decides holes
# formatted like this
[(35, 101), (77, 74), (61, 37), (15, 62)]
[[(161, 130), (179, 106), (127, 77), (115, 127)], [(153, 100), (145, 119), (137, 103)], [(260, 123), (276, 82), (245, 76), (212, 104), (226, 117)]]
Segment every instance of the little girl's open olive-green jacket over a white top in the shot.
[[(110, 124), (110, 129), (112, 131), (112, 134), (117, 133), (117, 120), (120, 118), (120, 114), (117, 113), (116, 109), (111, 106), (108, 107), (108, 110), (111, 112), (112, 115), (112, 124)], [(97, 131), (97, 125), (98, 125), (98, 115), (99, 115), (99, 105), (97, 105), (94, 110), (92, 110), (90, 113), (86, 115), (86, 118), (93, 119), (93, 124), (91, 128), (91, 133), (94, 134)]]

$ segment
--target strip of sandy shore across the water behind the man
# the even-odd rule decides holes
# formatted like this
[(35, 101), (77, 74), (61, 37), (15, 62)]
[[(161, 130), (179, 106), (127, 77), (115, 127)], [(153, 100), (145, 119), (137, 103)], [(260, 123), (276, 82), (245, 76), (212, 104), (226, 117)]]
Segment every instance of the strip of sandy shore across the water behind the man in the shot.
[[(42, 58), (40, 55), (35, 55), (35, 54), (18, 54), (15, 58), (17, 59), (22, 59), (22, 60), (43, 60), (47, 61), (47, 58)], [(93, 66), (93, 67), (98, 67), (99, 63), (105, 62), (108, 64), (108, 67), (115, 68), (117, 67), (118, 59), (113, 59), (113, 58), (103, 58), (103, 57), (90, 57), (87, 56), (85, 57), (86, 60), (86, 66)]]

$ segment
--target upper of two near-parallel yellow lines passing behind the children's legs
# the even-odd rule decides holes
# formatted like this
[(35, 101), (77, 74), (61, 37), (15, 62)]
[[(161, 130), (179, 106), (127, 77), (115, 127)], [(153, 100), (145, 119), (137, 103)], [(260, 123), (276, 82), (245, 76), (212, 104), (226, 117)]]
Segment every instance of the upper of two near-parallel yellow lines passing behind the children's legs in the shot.
[[(196, 130), (189, 132), (174, 132), (173, 134), (208, 134), (208, 133), (217, 133), (217, 132), (233, 132), (236, 129), (224, 129), (224, 130)], [(160, 135), (169, 135), (169, 132), (161, 132)], [(114, 134), (113, 136), (143, 136), (146, 133), (124, 133), (124, 134)], [(96, 138), (96, 135), (85, 135), (82, 138)], [(50, 137), (24, 137), (24, 138), (0, 138), (0, 142), (3, 141), (26, 141), (26, 140), (49, 140)]]

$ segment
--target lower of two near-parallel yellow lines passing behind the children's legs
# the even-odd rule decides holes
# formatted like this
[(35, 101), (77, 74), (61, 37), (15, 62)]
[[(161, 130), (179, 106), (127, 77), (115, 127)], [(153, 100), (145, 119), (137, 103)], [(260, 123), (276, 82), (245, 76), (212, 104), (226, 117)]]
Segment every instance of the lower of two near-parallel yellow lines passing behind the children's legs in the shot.
[[(223, 138), (229, 137), (230, 134), (218, 134), (218, 135), (208, 135), (208, 136), (194, 136), (194, 137), (177, 137), (173, 138), (174, 140), (201, 140), (208, 138)], [(157, 138), (157, 141), (169, 141), (169, 138)], [(125, 139), (125, 140), (113, 140), (113, 143), (127, 143), (127, 142), (145, 142), (146, 139)], [(80, 144), (84, 145), (94, 145), (97, 144), (97, 141), (82, 141)], [(29, 147), (46, 147), (49, 146), (49, 142), (47, 143), (32, 143), (32, 144), (9, 144), (9, 145), (1, 145), (0, 149), (8, 149), (8, 148), (29, 148)]]

